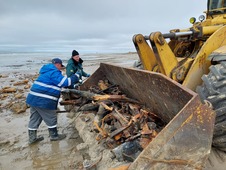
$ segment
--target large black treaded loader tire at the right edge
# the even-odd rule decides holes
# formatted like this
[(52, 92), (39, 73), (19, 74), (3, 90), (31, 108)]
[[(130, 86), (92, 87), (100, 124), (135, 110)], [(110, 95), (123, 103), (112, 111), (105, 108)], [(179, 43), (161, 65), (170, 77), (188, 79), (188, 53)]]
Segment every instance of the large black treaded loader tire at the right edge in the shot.
[(209, 101), (216, 112), (213, 147), (226, 151), (226, 62), (210, 66), (208, 75), (202, 76), (203, 84), (197, 87), (202, 101)]

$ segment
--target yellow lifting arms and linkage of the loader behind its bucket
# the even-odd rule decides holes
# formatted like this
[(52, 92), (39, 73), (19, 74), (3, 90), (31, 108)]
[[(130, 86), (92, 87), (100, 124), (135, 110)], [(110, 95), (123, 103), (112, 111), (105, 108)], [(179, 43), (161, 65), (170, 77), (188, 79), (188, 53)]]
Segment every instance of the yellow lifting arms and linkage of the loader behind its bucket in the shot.
[(207, 26), (203, 29), (206, 35), (210, 33), (212, 35), (205, 43), (196, 42), (200, 46), (196, 47), (197, 51), (193, 51), (195, 57), (183, 59), (175, 56), (160, 32), (151, 33), (148, 37), (150, 42), (154, 43), (155, 49), (150, 48), (143, 35), (135, 35), (133, 41), (144, 69), (160, 72), (195, 91), (195, 88), (202, 83), (202, 75), (209, 72), (211, 62), (207, 59), (208, 56), (226, 45), (226, 26), (209, 28)]

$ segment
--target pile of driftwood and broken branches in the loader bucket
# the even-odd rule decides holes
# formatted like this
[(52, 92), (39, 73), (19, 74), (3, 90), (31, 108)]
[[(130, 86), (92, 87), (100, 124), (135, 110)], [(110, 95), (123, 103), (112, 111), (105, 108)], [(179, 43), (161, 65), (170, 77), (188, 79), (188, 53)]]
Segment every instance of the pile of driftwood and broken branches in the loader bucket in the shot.
[(95, 112), (96, 140), (111, 149), (119, 161), (134, 161), (165, 126), (158, 116), (108, 80), (99, 80), (88, 91), (66, 89), (62, 94), (61, 105), (77, 106), (77, 112)]

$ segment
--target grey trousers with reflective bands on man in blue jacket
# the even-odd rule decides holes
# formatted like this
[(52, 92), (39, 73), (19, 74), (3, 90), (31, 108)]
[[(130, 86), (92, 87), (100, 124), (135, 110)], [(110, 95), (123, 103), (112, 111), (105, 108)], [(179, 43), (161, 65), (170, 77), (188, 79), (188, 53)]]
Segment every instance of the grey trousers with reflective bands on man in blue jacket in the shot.
[(48, 128), (57, 127), (57, 113), (56, 110), (42, 109), (39, 107), (30, 107), (30, 121), (28, 130), (37, 130), (42, 120), (46, 123)]

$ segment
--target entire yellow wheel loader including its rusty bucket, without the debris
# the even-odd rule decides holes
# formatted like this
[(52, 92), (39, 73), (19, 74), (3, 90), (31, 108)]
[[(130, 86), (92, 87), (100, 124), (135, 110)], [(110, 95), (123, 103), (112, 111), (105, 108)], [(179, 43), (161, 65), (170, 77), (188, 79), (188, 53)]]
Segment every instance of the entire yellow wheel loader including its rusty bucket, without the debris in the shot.
[(107, 79), (166, 123), (134, 162), (112, 169), (226, 169), (226, 0), (208, 0), (205, 14), (188, 29), (134, 35), (142, 69), (101, 63), (80, 86)]

